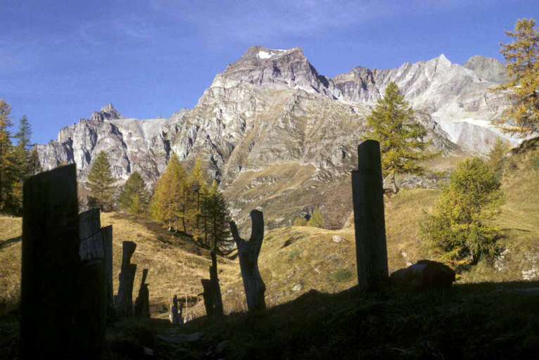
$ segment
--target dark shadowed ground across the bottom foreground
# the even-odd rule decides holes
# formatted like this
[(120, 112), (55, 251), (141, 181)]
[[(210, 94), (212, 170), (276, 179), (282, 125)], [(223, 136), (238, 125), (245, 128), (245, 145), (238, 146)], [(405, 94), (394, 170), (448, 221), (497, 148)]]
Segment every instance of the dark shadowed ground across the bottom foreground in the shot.
[[(2, 320), (0, 345), (16, 356), (16, 318)], [(311, 290), (258, 314), (202, 317), (184, 326), (119, 321), (107, 338), (110, 359), (535, 359), (539, 282), (423, 293)], [(153, 356), (141, 353), (144, 347)]]

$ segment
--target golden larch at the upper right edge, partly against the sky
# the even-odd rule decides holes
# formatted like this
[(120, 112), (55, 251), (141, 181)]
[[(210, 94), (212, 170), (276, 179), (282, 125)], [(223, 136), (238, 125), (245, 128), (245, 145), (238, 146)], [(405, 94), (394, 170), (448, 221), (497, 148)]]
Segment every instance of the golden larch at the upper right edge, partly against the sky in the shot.
[(497, 90), (508, 90), (513, 105), (497, 124), (509, 133), (528, 136), (539, 131), (539, 32), (535, 20), (521, 19), (514, 32), (505, 34), (514, 40), (502, 44), (500, 51), (511, 81)]

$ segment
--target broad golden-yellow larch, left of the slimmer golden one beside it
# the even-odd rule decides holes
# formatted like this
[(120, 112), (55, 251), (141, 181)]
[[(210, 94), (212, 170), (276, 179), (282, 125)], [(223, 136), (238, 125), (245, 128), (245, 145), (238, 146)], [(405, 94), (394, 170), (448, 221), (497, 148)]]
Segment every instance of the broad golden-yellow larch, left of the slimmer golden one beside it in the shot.
[(160, 176), (151, 201), (153, 219), (166, 224), (169, 230), (179, 229), (179, 221), (186, 231), (186, 174), (176, 154), (172, 154), (167, 169)]

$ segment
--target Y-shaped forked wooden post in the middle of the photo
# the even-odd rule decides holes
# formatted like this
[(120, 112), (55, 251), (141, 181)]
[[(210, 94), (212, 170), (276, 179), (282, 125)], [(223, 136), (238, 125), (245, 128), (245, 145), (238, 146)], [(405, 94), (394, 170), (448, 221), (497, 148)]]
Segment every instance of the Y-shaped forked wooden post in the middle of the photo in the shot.
[(248, 311), (258, 311), (266, 308), (264, 293), (266, 286), (258, 269), (258, 255), (264, 240), (264, 214), (261, 211), (251, 211), (251, 238), (246, 241), (239, 236), (238, 227), (230, 221), (230, 231), (238, 247), (239, 266), (243, 278), (243, 288), (247, 298)]

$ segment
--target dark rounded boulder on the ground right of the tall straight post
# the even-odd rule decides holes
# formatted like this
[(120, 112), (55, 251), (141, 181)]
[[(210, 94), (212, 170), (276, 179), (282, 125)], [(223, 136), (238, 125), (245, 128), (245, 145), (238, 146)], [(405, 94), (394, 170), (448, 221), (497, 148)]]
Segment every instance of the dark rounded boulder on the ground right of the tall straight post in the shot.
[(406, 288), (449, 288), (455, 281), (455, 271), (441, 262), (419, 260), (405, 269), (393, 272), (390, 278), (395, 285)]

